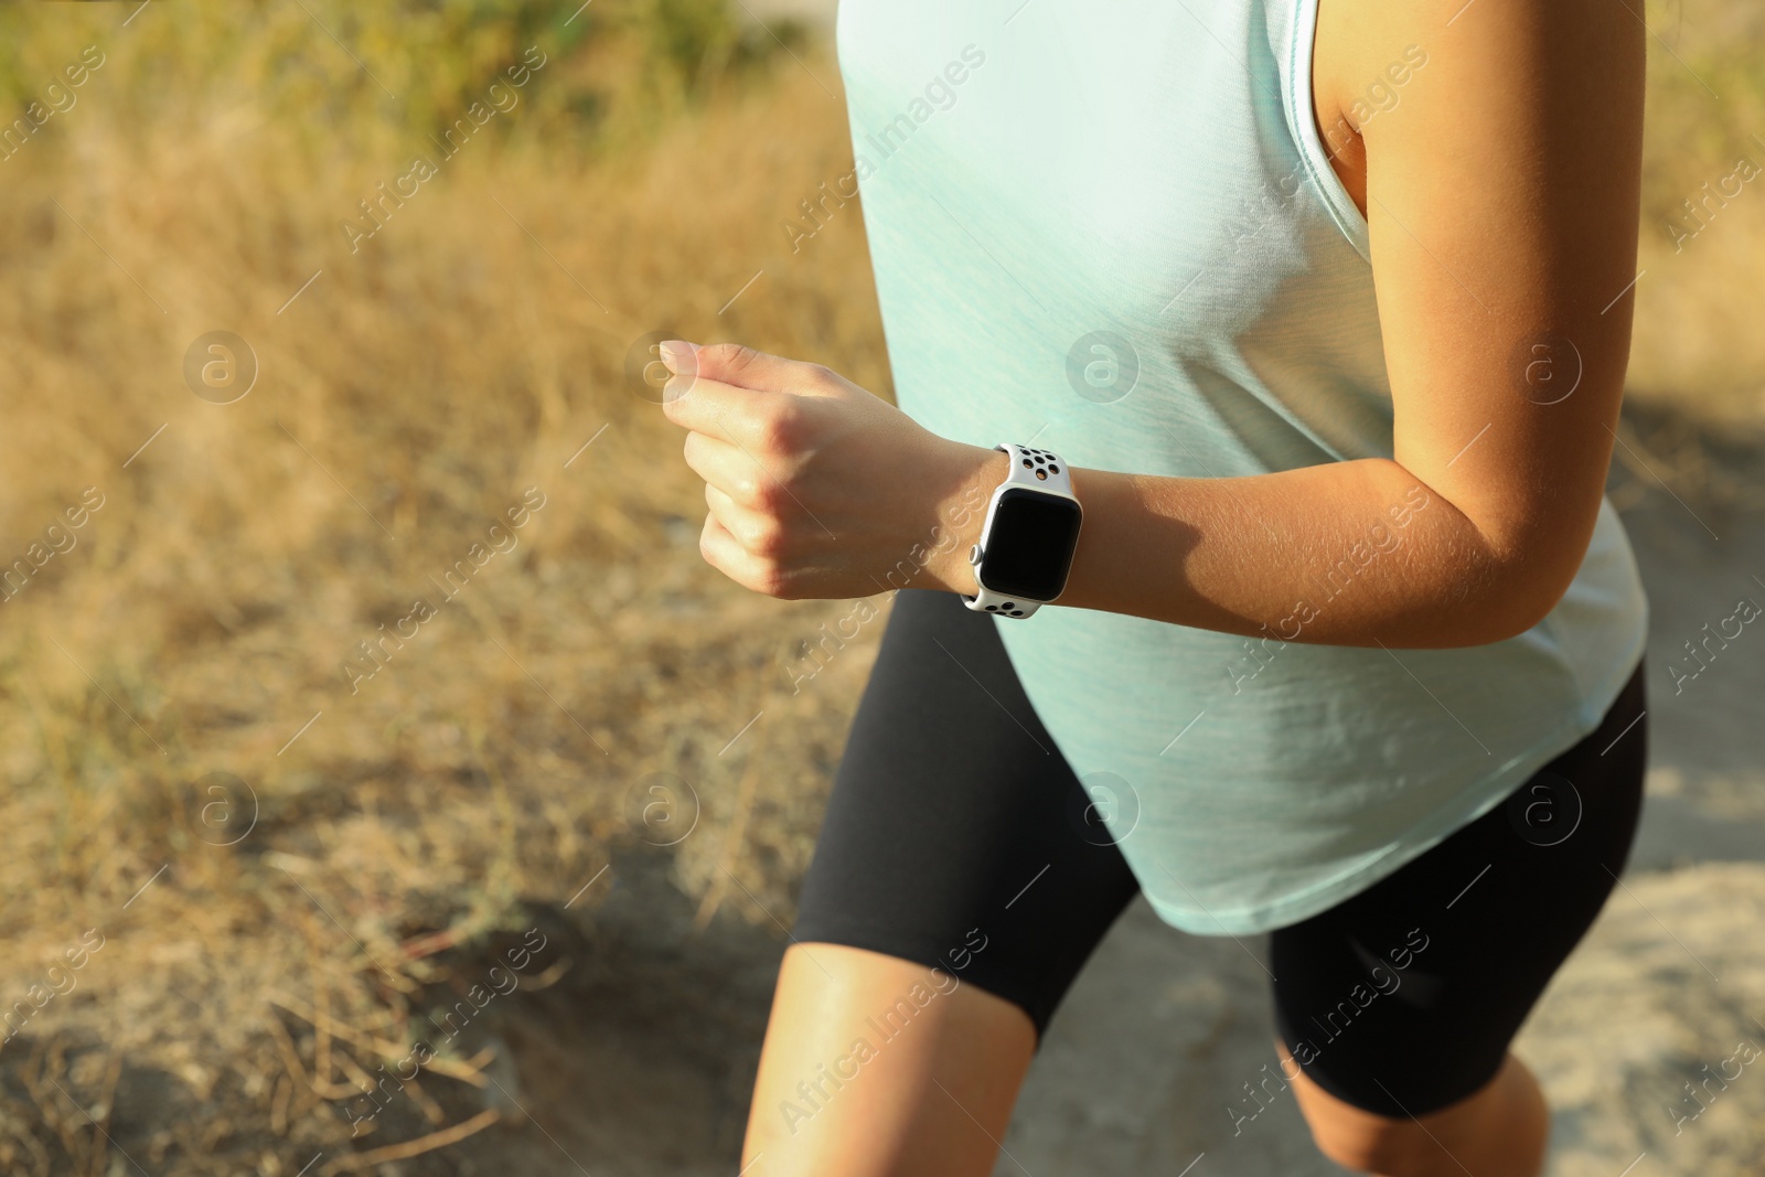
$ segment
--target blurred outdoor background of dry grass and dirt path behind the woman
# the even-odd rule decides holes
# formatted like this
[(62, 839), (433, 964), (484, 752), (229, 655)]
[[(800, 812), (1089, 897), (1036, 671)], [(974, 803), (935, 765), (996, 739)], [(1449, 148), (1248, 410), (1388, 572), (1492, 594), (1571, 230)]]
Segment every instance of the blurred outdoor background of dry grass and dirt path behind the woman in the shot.
[[(0, 1170), (740, 1168), (881, 625), (701, 561), (644, 364), (890, 395), (833, 7), (0, 7)], [(1758, 1173), (1765, 9), (1633, 7), (1649, 806), (1518, 1050), (1553, 1173)], [(1267, 1027), (1137, 903), (997, 1172), (1336, 1172)]]

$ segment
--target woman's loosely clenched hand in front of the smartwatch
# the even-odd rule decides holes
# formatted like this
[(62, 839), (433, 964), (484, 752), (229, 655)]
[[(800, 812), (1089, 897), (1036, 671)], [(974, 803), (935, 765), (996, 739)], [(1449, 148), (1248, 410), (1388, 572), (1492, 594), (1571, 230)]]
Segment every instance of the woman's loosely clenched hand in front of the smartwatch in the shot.
[(819, 364), (681, 341), (662, 362), (713, 568), (784, 600), (974, 591), (967, 552), (1004, 454), (939, 438)]

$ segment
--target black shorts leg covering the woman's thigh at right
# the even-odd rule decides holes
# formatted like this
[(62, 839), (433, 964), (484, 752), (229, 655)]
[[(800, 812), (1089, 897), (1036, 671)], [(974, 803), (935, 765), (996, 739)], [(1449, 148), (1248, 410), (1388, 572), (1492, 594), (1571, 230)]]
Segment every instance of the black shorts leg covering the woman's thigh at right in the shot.
[(1641, 812), (1641, 667), (1599, 729), (1506, 803), (1271, 935), (1276, 1025), (1326, 1092), (1387, 1117), (1472, 1096), (1624, 872)]

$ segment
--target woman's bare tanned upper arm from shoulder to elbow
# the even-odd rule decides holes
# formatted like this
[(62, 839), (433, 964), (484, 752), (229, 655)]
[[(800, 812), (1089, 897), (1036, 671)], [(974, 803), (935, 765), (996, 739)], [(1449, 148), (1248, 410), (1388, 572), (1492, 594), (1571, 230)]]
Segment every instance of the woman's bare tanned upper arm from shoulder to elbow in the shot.
[(1354, 145), (1394, 457), (1476, 524), (1543, 616), (1587, 551), (1617, 427), (1645, 30), (1626, 0), (1320, 9), (1318, 86), (1343, 111), (1407, 46), (1426, 53)]

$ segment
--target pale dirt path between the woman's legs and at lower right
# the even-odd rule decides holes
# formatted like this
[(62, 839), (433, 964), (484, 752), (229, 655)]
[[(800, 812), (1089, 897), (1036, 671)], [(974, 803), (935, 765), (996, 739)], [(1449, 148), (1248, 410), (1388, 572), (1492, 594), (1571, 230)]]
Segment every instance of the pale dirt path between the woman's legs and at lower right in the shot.
[[(1747, 1068), (1700, 1089), (1698, 1121), (1668, 1108), (1696, 1113), (1682, 1083), (1705, 1080), (1705, 1064), (1731, 1075), (1739, 1039), (1765, 1048), (1765, 628), (1712, 646), (1680, 693), (1664, 667), (1694, 667), (1684, 642), (1740, 596), (1765, 605), (1765, 512), (1693, 514), (1650, 494), (1626, 526), (1652, 607), (1643, 829), (1626, 889), (1516, 1050), (1553, 1103), (1557, 1177), (1615, 1177), (1641, 1152), (1634, 1177), (1758, 1173), (1765, 1076)], [(1311, 1149), (1290, 1098), (1250, 1122), (1227, 1110), (1257, 1106), (1243, 1083), (1273, 1061), (1264, 992), (1236, 944), (1181, 935), (1135, 903), (1055, 1018), (1004, 1140), (1017, 1159), (995, 1175), (1179, 1173), (1198, 1154), (1193, 1177), (1341, 1172)]]

